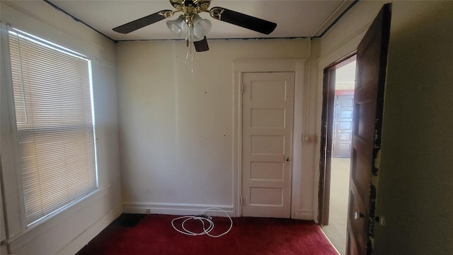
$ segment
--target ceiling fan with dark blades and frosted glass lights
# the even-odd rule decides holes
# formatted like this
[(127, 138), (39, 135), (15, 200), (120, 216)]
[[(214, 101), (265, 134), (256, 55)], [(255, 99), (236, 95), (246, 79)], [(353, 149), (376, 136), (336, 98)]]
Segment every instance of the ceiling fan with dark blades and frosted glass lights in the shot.
[(207, 12), (210, 16), (218, 21), (231, 23), (242, 28), (269, 35), (273, 32), (276, 23), (265, 21), (260, 18), (248, 16), (237, 11), (231, 11), (223, 7), (213, 7), (208, 9), (211, 0), (170, 0), (170, 4), (175, 8), (174, 11), (163, 10), (152, 13), (149, 16), (139, 18), (135, 21), (125, 23), (124, 25), (113, 28), (118, 33), (131, 33), (134, 30), (151, 25), (158, 21), (170, 18), (173, 14), (182, 12), (182, 14), (174, 21), (167, 21), (167, 26), (171, 32), (185, 39), (187, 46), (195, 45), (197, 52), (209, 50), (207, 45), (206, 35), (211, 29), (211, 22), (200, 17), (198, 13)]

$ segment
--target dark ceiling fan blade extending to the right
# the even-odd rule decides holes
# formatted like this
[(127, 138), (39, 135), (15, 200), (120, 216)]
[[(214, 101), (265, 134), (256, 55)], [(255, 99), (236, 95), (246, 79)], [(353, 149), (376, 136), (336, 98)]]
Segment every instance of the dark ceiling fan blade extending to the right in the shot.
[(237, 11), (231, 11), (223, 7), (214, 7), (210, 10), (210, 15), (219, 21), (225, 21), (227, 23), (248, 28), (265, 35), (269, 35), (277, 27), (276, 23), (265, 21), (260, 18), (248, 16), (247, 14), (239, 13)]

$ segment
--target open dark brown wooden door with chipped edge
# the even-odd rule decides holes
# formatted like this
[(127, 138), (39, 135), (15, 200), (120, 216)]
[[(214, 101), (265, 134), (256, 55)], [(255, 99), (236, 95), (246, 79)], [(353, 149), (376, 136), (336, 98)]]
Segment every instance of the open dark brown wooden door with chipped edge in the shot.
[(357, 47), (352, 128), (347, 254), (372, 254), (377, 176), (374, 160), (380, 149), (384, 82), (389, 44), (391, 4), (382, 7)]

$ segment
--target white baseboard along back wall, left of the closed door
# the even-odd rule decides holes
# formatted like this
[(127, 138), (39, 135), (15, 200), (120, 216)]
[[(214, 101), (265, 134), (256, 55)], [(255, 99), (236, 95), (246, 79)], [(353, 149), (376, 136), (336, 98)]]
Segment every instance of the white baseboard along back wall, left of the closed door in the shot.
[[(122, 210), (125, 213), (158, 213), (166, 215), (199, 215), (206, 208), (220, 208), (230, 217), (233, 217), (234, 210), (232, 205), (200, 205), (183, 203), (123, 203)], [(209, 215), (225, 216), (219, 210), (209, 210)]]

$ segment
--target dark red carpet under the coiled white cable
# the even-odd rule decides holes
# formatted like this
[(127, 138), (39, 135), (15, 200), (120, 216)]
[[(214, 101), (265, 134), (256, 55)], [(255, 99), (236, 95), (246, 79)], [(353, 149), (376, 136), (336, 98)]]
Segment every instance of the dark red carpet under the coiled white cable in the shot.
[[(190, 237), (171, 227), (174, 215), (121, 215), (76, 255), (234, 254), (234, 255), (328, 255), (337, 254), (313, 222), (288, 219), (239, 217), (233, 228), (219, 238)], [(228, 218), (214, 217), (210, 234), (228, 229)], [(176, 226), (180, 226), (180, 223)], [(185, 226), (195, 232), (201, 223)]]

